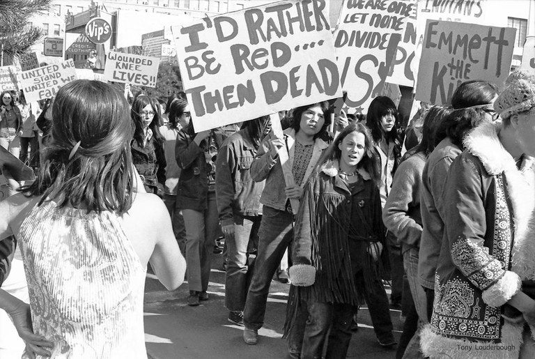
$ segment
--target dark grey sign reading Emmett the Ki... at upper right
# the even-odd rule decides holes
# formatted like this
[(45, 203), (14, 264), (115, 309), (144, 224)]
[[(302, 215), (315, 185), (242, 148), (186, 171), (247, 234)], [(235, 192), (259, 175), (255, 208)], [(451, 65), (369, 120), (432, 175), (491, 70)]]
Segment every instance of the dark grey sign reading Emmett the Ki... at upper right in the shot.
[(484, 79), (502, 85), (509, 75), (516, 29), (428, 20), (416, 99), (447, 105), (459, 84)]

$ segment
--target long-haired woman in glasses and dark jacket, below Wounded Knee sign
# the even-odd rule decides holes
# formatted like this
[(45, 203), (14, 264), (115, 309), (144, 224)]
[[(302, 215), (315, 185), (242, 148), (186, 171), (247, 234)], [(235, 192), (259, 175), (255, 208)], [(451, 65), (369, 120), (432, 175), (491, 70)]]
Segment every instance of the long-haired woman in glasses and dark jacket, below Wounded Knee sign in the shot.
[(134, 98), (130, 116), (135, 125), (134, 139), (132, 139), (132, 160), (136, 167), (145, 190), (149, 193), (164, 195), (165, 167), (164, 155), (165, 139), (160, 133), (156, 105), (146, 95)]

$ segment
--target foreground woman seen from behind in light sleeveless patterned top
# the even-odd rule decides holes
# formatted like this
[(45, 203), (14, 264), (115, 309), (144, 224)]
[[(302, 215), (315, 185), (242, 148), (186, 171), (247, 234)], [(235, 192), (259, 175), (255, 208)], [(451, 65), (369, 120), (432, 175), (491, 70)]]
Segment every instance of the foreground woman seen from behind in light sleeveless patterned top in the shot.
[(59, 89), (53, 113), (36, 181), (0, 202), (0, 240), (18, 240), (30, 305), (0, 289), (0, 308), (29, 358), (145, 359), (147, 263), (173, 290), (185, 261), (164, 204), (138, 188), (129, 106), (80, 79)]

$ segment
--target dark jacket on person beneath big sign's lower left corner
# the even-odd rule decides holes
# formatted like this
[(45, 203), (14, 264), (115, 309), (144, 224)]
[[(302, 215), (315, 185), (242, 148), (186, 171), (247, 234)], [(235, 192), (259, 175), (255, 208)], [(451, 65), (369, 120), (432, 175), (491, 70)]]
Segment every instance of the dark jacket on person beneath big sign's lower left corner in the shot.
[[(219, 131), (212, 131), (210, 136), (215, 137), (215, 144), (219, 149), (225, 135)], [(176, 162), (182, 169), (176, 190), (176, 205), (183, 209), (204, 211), (208, 208), (206, 201), (208, 200), (208, 174), (211, 167), (206, 162), (206, 139), (203, 139), (201, 146), (197, 146), (193, 141), (194, 138), (195, 132), (191, 125), (178, 132), (176, 137)]]

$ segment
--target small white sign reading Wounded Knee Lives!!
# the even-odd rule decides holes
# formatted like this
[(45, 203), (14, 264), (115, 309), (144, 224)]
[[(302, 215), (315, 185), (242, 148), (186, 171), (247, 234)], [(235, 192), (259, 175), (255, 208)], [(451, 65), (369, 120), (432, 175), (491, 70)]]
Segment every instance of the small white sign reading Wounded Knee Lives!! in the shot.
[(104, 79), (123, 84), (155, 87), (160, 59), (121, 52), (109, 52)]

